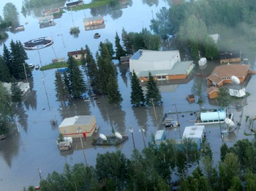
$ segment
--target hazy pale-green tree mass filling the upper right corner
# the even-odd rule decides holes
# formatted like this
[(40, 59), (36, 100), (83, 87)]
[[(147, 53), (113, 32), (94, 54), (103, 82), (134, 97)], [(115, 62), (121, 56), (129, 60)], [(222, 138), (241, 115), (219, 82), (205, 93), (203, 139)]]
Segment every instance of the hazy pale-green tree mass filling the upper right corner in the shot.
[[(217, 26), (222, 25), (224, 29), (240, 23), (255, 26), (256, 5), (251, 1), (172, 1), (171, 4), (169, 9), (163, 7), (156, 13), (156, 19), (151, 20), (151, 30), (163, 39), (172, 35), (177, 48), (189, 48), (193, 59), (199, 58), (198, 51), (208, 59), (219, 56), (217, 46), (208, 36), (218, 33)], [(242, 33), (256, 38), (253, 27)]]

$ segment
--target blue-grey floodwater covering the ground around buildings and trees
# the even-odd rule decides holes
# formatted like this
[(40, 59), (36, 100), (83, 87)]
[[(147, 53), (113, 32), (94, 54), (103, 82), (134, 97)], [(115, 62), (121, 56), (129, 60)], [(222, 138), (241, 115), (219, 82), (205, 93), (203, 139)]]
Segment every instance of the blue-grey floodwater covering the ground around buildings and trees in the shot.
[[(12, 0), (10, 2), (14, 3), (19, 11), (21, 10), (22, 5), (20, 1), (16, 3), (16, 1)], [(28, 22), (25, 25), (25, 31), (9, 33), (9, 38), (5, 44), (8, 46), (10, 40), (26, 42), (38, 37), (52, 37), (54, 39), (53, 46), (39, 51), (27, 51), (29, 57), (27, 63), (34, 63), (35, 65), (46, 65), (56, 57), (65, 57), (67, 59), (68, 51), (80, 50), (85, 44), (88, 44), (95, 55), (100, 41), (109, 39), (115, 44), (115, 32), (117, 31), (120, 37), (122, 27), (128, 32), (139, 32), (142, 27), (149, 29), (150, 20), (162, 7), (168, 7), (166, 1), (138, 0), (130, 1), (127, 8), (107, 10), (108, 12), (105, 8), (79, 10), (72, 13), (69, 11), (65, 12), (62, 18), (54, 20), (57, 23), (55, 26), (42, 29), (39, 28), (36, 18), (39, 15), (39, 10), (35, 14), (32, 12), (26, 18), (20, 14), (20, 24), (25, 25), (25, 22)], [(82, 23), (84, 16), (96, 15), (104, 15), (105, 28), (85, 31)], [(79, 26), (81, 30), (78, 37), (69, 35), (69, 28), (74, 25)], [(94, 39), (94, 33), (100, 33), (101, 38)], [(0, 53), (2, 51), (3, 46), (0, 46)], [(255, 57), (253, 57), (251, 63), (254, 63), (254, 61)], [(62, 172), (65, 163), (73, 165), (78, 162), (84, 162), (84, 149), (82, 149), (80, 141), (74, 143), (71, 152), (60, 153), (56, 146), (58, 128), (50, 123), (53, 119), (57, 119), (58, 124), (60, 124), (65, 117), (95, 115), (97, 125), (100, 126), (100, 133), (105, 135), (111, 134), (111, 126), (118, 132), (126, 132), (129, 140), (118, 147), (95, 147), (91, 144), (92, 138), (83, 139), (86, 160), (90, 165), (96, 164), (98, 153), (106, 153), (107, 151), (111, 152), (120, 149), (126, 156), (130, 157), (134, 147), (132, 134), (129, 131), (131, 126), (134, 129), (135, 147), (141, 151), (144, 148), (144, 144), (139, 127), (145, 129), (145, 141), (148, 143), (151, 141), (151, 135), (154, 135), (156, 130), (163, 128), (161, 119), (164, 113), (175, 112), (175, 104), (177, 112), (181, 113), (171, 115), (174, 119), (179, 118), (181, 127), (167, 130), (167, 137), (179, 139), (185, 126), (194, 124), (194, 119), (196, 118), (194, 112), (200, 110), (198, 104), (189, 104), (186, 100), (187, 95), (192, 93), (192, 89), (201, 89), (203, 92), (206, 98), (206, 102), (203, 104), (205, 109), (216, 108), (215, 103), (208, 101), (204, 76), (209, 75), (217, 65), (218, 63), (209, 62), (204, 70), (195, 68), (187, 80), (160, 81), (163, 104), (162, 106), (156, 106), (156, 117), (153, 108), (134, 108), (131, 106), (130, 73), (127, 66), (119, 67), (119, 89), (122, 98), (124, 98), (120, 108), (115, 108), (115, 106), (108, 104), (107, 98), (104, 96), (96, 96), (97, 99), (89, 98), (89, 102), (74, 100), (69, 103), (67, 108), (62, 108), (60, 103), (56, 102), (54, 90), (55, 69), (46, 70), (45, 72), (33, 70), (33, 78), (29, 79), (31, 91), (27, 94), (24, 104), (16, 108), (18, 128), (16, 125), (12, 125), (12, 134), (6, 140), (0, 141), (0, 190), (22, 190), (23, 186), (37, 186), (40, 181), (39, 169), (41, 170), (41, 175), (45, 178), (48, 173), (52, 173), (54, 170)], [(254, 66), (254, 64), (251, 65)], [(255, 76), (253, 76), (248, 86), (255, 83), (255, 81)], [(253, 95), (256, 95), (255, 89), (248, 88), (248, 91), (251, 93), (251, 96), (249, 96), (251, 99), (250, 103), (253, 104), (255, 102)], [(234, 106), (230, 107), (236, 122), (240, 121), (239, 116), (249, 98), (247, 100), (238, 100)], [(247, 109), (248, 106), (245, 107), (244, 113), (253, 115), (253, 110)], [(244, 116), (242, 115), (242, 117)], [(242, 118), (243, 121), (245, 121), (244, 118)], [(206, 137), (213, 149), (215, 161), (219, 160), (219, 147), (221, 147), (223, 141), (227, 141), (229, 145), (232, 145), (232, 142), (238, 138), (245, 138), (244, 129), (240, 128), (236, 132), (224, 135), (222, 139), (219, 125), (206, 126)]]

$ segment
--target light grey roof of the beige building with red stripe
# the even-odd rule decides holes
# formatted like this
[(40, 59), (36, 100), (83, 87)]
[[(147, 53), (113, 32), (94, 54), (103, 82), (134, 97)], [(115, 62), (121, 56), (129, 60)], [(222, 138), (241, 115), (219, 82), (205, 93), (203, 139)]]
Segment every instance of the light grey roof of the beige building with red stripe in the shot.
[(71, 125), (88, 125), (94, 118), (94, 115), (79, 115), (75, 117), (67, 117), (62, 121), (59, 127)]

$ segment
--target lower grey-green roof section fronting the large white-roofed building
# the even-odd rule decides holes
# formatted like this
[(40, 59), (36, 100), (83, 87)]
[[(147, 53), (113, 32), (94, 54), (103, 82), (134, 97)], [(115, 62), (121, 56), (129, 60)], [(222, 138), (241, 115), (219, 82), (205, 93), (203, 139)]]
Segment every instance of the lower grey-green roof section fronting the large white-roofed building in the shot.
[(170, 70), (147, 70), (142, 71), (137, 74), (138, 77), (149, 76), (149, 72), (151, 72), (152, 76), (159, 75), (177, 75), (177, 74), (187, 74), (187, 69), (193, 63), (193, 61), (183, 61), (175, 63), (174, 67)]

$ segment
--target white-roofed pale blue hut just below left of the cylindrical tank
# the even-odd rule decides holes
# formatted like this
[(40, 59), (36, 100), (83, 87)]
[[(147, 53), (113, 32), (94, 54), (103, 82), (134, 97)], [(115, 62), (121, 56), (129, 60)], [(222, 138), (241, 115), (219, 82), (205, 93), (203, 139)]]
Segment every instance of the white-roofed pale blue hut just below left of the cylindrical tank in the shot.
[(197, 144), (198, 149), (201, 148), (201, 144), (203, 142), (205, 136), (205, 128), (204, 125), (193, 125), (186, 126), (183, 132), (182, 139), (192, 140)]

